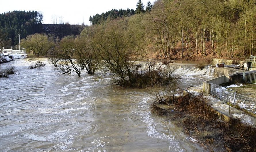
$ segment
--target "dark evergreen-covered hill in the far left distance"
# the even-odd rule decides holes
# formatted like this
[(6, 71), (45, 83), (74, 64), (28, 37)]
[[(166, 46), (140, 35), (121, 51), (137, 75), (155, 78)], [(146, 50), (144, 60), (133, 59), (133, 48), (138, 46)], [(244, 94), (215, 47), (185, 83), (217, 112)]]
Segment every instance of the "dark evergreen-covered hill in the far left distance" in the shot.
[(42, 24), (43, 15), (38, 11), (12, 11), (0, 14), (0, 48), (15, 46), (20, 39), (35, 33), (47, 34), (49, 38), (61, 39), (67, 35), (79, 35), (84, 25)]

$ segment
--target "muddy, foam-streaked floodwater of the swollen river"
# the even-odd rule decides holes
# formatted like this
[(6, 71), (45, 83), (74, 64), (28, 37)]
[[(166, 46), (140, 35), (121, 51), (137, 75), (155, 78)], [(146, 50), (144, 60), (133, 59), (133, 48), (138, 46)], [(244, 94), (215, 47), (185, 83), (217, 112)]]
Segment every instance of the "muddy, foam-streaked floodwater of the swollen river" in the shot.
[[(18, 70), (0, 78), (0, 151), (204, 151), (151, 112), (147, 90), (110, 85), (110, 74), (60, 75), (44, 62), (41, 69), (28, 69), (25, 59), (0, 65)], [(211, 72), (178, 66), (181, 87), (199, 85)]]

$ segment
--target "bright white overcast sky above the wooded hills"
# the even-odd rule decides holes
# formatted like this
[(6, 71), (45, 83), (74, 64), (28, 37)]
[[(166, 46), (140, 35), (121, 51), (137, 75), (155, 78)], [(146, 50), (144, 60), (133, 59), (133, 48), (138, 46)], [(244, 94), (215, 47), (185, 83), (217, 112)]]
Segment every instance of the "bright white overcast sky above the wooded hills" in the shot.
[[(89, 17), (96, 13), (111, 9), (136, 9), (138, 0), (5, 0), (1, 1), (0, 13), (20, 10), (39, 11), (43, 14), (43, 24), (53, 24), (53, 19), (59, 23), (90, 25)], [(155, 0), (150, 0), (153, 4)], [(146, 6), (148, 0), (142, 0)]]

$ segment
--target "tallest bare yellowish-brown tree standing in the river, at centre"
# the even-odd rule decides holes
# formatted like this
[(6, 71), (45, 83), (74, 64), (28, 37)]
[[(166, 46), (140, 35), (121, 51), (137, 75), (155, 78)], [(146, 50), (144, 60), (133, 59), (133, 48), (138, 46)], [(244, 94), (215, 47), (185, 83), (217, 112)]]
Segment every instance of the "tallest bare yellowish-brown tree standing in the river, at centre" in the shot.
[(112, 21), (98, 35), (97, 40), (102, 59), (117, 76), (114, 81), (118, 85), (129, 87), (133, 77), (132, 68), (141, 57), (141, 50), (137, 48), (135, 39), (127, 33), (125, 24), (126, 20)]

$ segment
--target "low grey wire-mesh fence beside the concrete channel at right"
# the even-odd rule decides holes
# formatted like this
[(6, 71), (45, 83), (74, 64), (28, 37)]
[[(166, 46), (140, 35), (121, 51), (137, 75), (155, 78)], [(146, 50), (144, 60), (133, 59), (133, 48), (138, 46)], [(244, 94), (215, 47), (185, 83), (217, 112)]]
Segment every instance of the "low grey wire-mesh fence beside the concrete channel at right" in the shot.
[(256, 99), (228, 90), (219, 85), (211, 83), (211, 95), (219, 98), (222, 101), (232, 105), (238, 105), (240, 108), (256, 114)]

